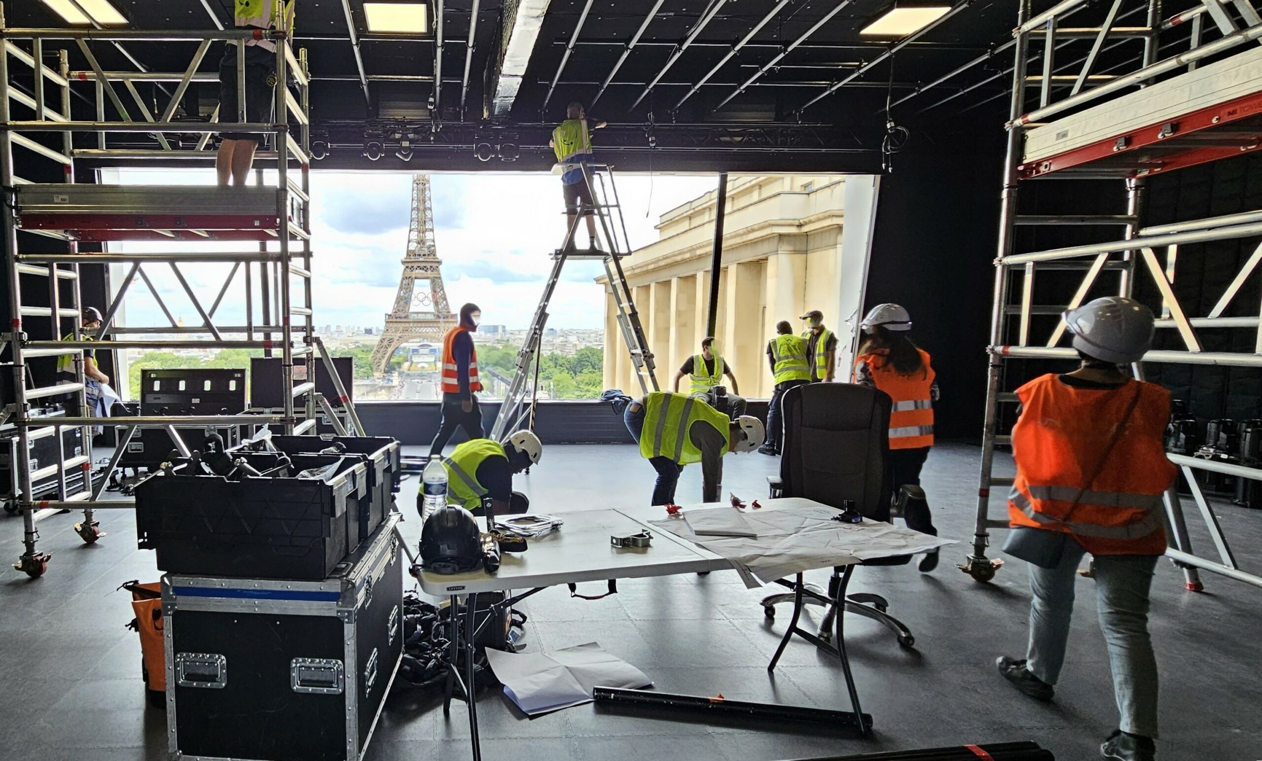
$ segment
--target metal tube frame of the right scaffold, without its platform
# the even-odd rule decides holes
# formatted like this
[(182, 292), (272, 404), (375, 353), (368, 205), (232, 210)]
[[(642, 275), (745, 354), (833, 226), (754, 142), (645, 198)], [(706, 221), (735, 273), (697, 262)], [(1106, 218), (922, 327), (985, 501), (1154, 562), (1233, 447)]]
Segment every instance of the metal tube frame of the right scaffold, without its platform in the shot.
[[(1003, 563), (1003, 560), (991, 559), (986, 554), (987, 546), (989, 546), (989, 530), (1008, 526), (1006, 516), (1003, 519), (991, 517), (989, 504), (992, 487), (1003, 487), (1003, 495), (1006, 495), (1008, 487), (1013, 483), (1013, 478), (1011, 477), (996, 477), (993, 475), (996, 447), (1011, 444), (1011, 435), (998, 432), (1001, 418), (1000, 405), (1018, 401), (1012, 390), (1006, 390), (1008, 386), (1015, 389), (1017, 385), (1006, 377), (1008, 375), (1006, 372), (1007, 361), (1012, 358), (1076, 358), (1073, 348), (1059, 346), (1066, 332), (1064, 322), (1058, 322), (1056, 327), (1046, 337), (1035, 336), (1032, 326), (1035, 317), (1059, 316), (1065, 309), (1080, 305), (1087, 299), (1092, 288), (1098, 285), (1104, 273), (1117, 273), (1116, 293), (1123, 297), (1129, 297), (1133, 293), (1138, 278), (1151, 278), (1162, 299), (1161, 316), (1156, 321), (1156, 327), (1159, 329), (1177, 331), (1182, 347), (1147, 352), (1140, 362), (1132, 365), (1132, 375), (1136, 379), (1143, 380), (1146, 362), (1262, 367), (1262, 307), (1259, 307), (1258, 317), (1224, 317), (1224, 312), (1232, 304), (1233, 299), (1235, 299), (1244, 281), (1257, 269), (1259, 261), (1262, 261), (1262, 245), (1258, 245), (1253, 250), (1252, 256), (1247, 257), (1215, 305), (1204, 316), (1194, 316), (1190, 309), (1185, 308), (1175, 295), (1172, 288), (1180, 245), (1222, 240), (1256, 240), (1258, 236), (1262, 236), (1262, 212), (1246, 212), (1150, 227), (1141, 227), (1140, 225), (1145, 202), (1145, 178), (1147, 175), (1153, 172), (1205, 163), (1227, 155), (1238, 155), (1239, 153), (1254, 150), (1258, 148), (1256, 135), (1230, 131), (1219, 131), (1217, 135), (1208, 134), (1200, 138), (1208, 138), (1204, 145), (1222, 148), (1223, 150), (1206, 153), (1204, 148), (1189, 148), (1182, 156), (1175, 156), (1164, 164), (1161, 162), (1152, 163), (1135, 159), (1131, 159), (1132, 163), (1127, 163), (1128, 159), (1124, 158), (1128, 155), (1127, 151), (1136, 148), (1131, 143), (1131, 136), (1118, 138), (1113, 143), (1112, 150), (1102, 150), (1094, 158), (1078, 160), (1076, 163), (1065, 163), (1064, 165), (1058, 165), (1055, 160), (1044, 162), (1042, 159), (1037, 159), (1029, 162), (1023, 155), (1023, 139), (1027, 130), (1054, 129), (1049, 127), (1049, 124), (1056, 126), (1061, 124), (1050, 121), (1051, 117), (1117, 93), (1129, 86), (1150, 87), (1153, 85), (1155, 77), (1160, 77), (1161, 74), (1179, 69), (1185, 69), (1190, 74), (1198, 68), (1201, 59), (1262, 38), (1262, 18), (1258, 16), (1249, 0), (1232, 0), (1229, 5), (1219, 3), (1219, 0), (1203, 0), (1200, 5), (1165, 20), (1160, 19), (1160, 0), (1147, 0), (1146, 25), (1140, 30), (1140, 34), (1136, 34), (1136, 37), (1143, 40), (1138, 66), (1129, 73), (1114, 76), (1095, 87), (1084, 88), (1088, 82), (1093, 81), (1092, 69), (1104, 40), (1117, 33), (1117, 29), (1113, 29), (1113, 24), (1124, 1), (1112, 0), (1112, 4), (1107, 6), (1106, 20), (1095, 30), (1090, 53), (1083, 59), (1079, 73), (1073, 77), (1074, 85), (1068, 97), (1059, 101), (1053, 98), (1055, 82), (1055, 77), (1053, 76), (1055, 66), (1054, 54), (1064, 44), (1065, 38), (1071, 37), (1058, 34), (1059, 20), (1080, 10), (1087, 3), (1085, 0), (1064, 0), (1034, 18), (1031, 18), (1029, 0), (1021, 0), (1018, 4), (1017, 25), (1013, 30), (1013, 40), (1011, 43), (1015, 62), (1011, 69), (1010, 117), (1005, 125), (1007, 127), (1007, 145), (1003, 165), (1003, 187), (1000, 197), (1000, 233), (998, 252), (994, 260), (996, 278), (991, 337), (987, 346), (988, 380), (977, 521), (972, 552), (958, 565), (960, 570), (968, 573), (978, 582), (989, 582)], [(1239, 21), (1243, 23), (1237, 23), (1237, 18), (1232, 15), (1229, 9), (1234, 9)], [(1212, 19), (1222, 33), (1222, 37), (1213, 42), (1203, 42), (1205, 16)], [(1191, 21), (1189, 49), (1170, 58), (1157, 61), (1160, 33), (1188, 21)], [(1039, 71), (1035, 71), (1032, 68), (1035, 62), (1031, 61), (1030, 47), (1040, 38), (1042, 42), (1041, 62), (1037, 63)], [(1039, 106), (1029, 112), (1026, 111), (1027, 82), (1036, 82), (1040, 86)], [(1219, 117), (1214, 117), (1213, 124), (1217, 125), (1218, 122)], [(1118, 126), (1119, 130), (1126, 133), (1122, 125)], [(1165, 140), (1175, 136), (1176, 133), (1179, 133), (1179, 136), (1182, 136), (1180, 125), (1171, 121), (1162, 125), (1153, 136), (1150, 136), (1150, 141)], [(1102, 145), (1106, 143), (1104, 140), (1100, 141)], [(1170, 145), (1172, 146), (1177, 141), (1171, 141)], [(1080, 178), (1123, 184), (1126, 211), (1122, 215), (1037, 216), (1020, 213), (1017, 206), (1020, 183), (1040, 178)], [(1106, 240), (1099, 244), (1018, 252), (1015, 241), (1016, 227), (1039, 225), (1121, 227), (1122, 235), (1116, 240)], [(1164, 256), (1160, 256), (1159, 251), (1164, 251)], [(1083, 273), (1068, 304), (1041, 305), (1035, 303), (1036, 273), (1047, 270), (1078, 270)], [(1217, 328), (1256, 329), (1257, 338), (1253, 351), (1204, 351), (1198, 338), (1198, 331)], [(1006, 384), (1006, 381), (1008, 382)], [(1218, 559), (1195, 554), (1189, 538), (1179, 490), (1176, 486), (1171, 486), (1162, 498), (1170, 541), (1166, 557), (1182, 570), (1186, 588), (1195, 592), (1204, 588), (1199, 574), (1200, 570), (1218, 573), (1235, 581), (1262, 587), (1262, 577), (1243, 572), (1237, 565), (1227, 536), (1195, 477), (1196, 471), (1208, 471), (1262, 480), (1262, 469), (1217, 463), (1179, 454), (1170, 454), (1169, 457), (1179, 467), (1179, 472), (1188, 485), (1188, 490), (1198, 507), (1198, 512), (1205, 522), (1205, 529), (1218, 554)]]

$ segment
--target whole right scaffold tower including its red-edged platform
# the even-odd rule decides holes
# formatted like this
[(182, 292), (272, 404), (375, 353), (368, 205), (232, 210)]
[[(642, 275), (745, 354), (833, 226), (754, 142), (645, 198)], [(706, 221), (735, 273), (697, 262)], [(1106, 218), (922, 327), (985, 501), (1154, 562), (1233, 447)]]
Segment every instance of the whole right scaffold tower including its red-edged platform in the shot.
[[(1248, 317), (1224, 317), (1241, 286), (1262, 261), (1262, 246), (1244, 263), (1217, 304), (1199, 316), (1181, 304), (1172, 283), (1180, 265), (1188, 266), (1189, 256), (1179, 256), (1180, 246), (1205, 241), (1248, 239), (1254, 244), (1262, 236), (1262, 212), (1227, 217), (1193, 220), (1172, 225), (1141, 227), (1143, 220), (1145, 182), (1156, 174), (1241, 155), (1262, 145), (1262, 127), (1251, 115), (1262, 106), (1262, 48), (1256, 44), (1243, 52), (1222, 58), (1232, 48), (1248, 45), (1262, 38), (1262, 19), (1248, 0), (1230, 4), (1204, 0), (1165, 20), (1160, 18), (1160, 0), (1146, 0), (1146, 24), (1142, 28), (1119, 28), (1127, 0), (1106, 5), (1104, 23), (1084, 34), (1066, 29), (1065, 16), (1088, 5), (1087, 0), (1064, 0), (1046, 13), (1031, 16), (1029, 0), (1021, 0), (1015, 38), (1012, 69), (1012, 101), (1007, 122), (1007, 155), (1001, 194), (998, 256), (994, 261), (994, 299), (991, 323), (989, 376), (986, 401), (984, 442), (981, 483), (978, 488), (977, 526), (972, 553), (959, 565), (979, 582), (993, 578), (1002, 560), (987, 558), (989, 530), (1007, 528), (1005, 517), (991, 517), (991, 491), (1007, 496), (1012, 477), (994, 476), (994, 449), (1011, 443), (1000, 432), (1010, 423), (1003, 405), (1013, 405), (1013, 392), (1021, 381), (1013, 360), (1071, 360), (1073, 348), (1061, 346), (1065, 326), (1059, 316), (1084, 303), (1092, 295), (1131, 295), (1141, 278), (1151, 278), (1162, 299), (1157, 328), (1176, 331), (1180, 348), (1150, 351), (1142, 362), (1132, 366), (1135, 377), (1145, 377), (1145, 365), (1223, 365), (1262, 367), (1262, 319), (1258, 305)], [(1217, 25), (1220, 37), (1204, 42), (1209, 34), (1204, 18)], [(1159, 35), (1164, 30), (1190, 23), (1188, 49), (1159, 61)], [(1082, 68), (1073, 76), (1068, 97), (1054, 100), (1056, 81), (1053, 74), (1054, 56), (1068, 39), (1090, 42), (1090, 50)], [(1097, 57), (1106, 40), (1133, 39), (1141, 44), (1131, 71), (1116, 76), (1093, 74)], [(1030, 47), (1041, 42), (1041, 61), (1031, 57)], [(1133, 43), (1131, 43), (1133, 44)], [(1217, 57), (1210, 63), (1204, 59)], [(1181, 73), (1176, 73), (1181, 72)], [(1174, 74), (1161, 78), (1164, 74)], [(1103, 83), (1085, 88), (1087, 82)], [(1037, 107), (1027, 111), (1026, 83), (1039, 83)], [(1117, 95), (1127, 88), (1126, 95)], [(1107, 98), (1107, 96), (1114, 96)], [(1093, 101), (1102, 101), (1083, 109)], [(1022, 213), (1018, 188), (1035, 179), (1089, 179), (1112, 183), (1124, 192), (1124, 213)], [(1053, 250), (1018, 250), (1018, 226), (1089, 226), (1097, 231), (1098, 242)], [(1121, 228), (1118, 237), (1117, 230)], [(1032, 247), (1037, 247), (1036, 245)], [(1193, 263), (1195, 264), (1195, 263)], [(1078, 279), (1073, 273), (1082, 273)], [(1106, 274), (1107, 273), (1107, 274)], [(1076, 288), (1068, 303), (1039, 304), (1036, 275), (1044, 278), (1071, 276)], [(1116, 280), (1108, 281), (1116, 274)], [(1198, 333), (1213, 329), (1251, 329), (1257, 332), (1253, 351), (1208, 352)], [(1046, 331), (1046, 332), (1044, 332)], [(1011, 406), (1006, 409), (1011, 410)], [(1171, 487), (1164, 498), (1171, 541), (1166, 555), (1184, 569), (1189, 589), (1201, 589), (1198, 570), (1210, 570), (1251, 584), (1262, 586), (1262, 577), (1241, 570), (1232, 555), (1218, 519), (1196, 482), (1195, 471), (1227, 473), (1262, 480), (1262, 469), (1225, 464), (1170, 454), (1179, 466), (1186, 487), (1205, 521), (1205, 529), (1219, 558), (1194, 554), (1180, 504), (1179, 491)]]

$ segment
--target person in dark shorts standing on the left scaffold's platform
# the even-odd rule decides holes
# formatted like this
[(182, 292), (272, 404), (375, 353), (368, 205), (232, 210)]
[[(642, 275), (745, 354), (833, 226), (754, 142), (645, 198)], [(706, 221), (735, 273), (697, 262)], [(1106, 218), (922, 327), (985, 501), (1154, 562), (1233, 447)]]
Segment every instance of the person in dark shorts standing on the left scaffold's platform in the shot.
[[(278, 0), (235, 0), (232, 19), (239, 29), (275, 29)], [(293, 27), (293, 0), (281, 0)], [(220, 59), (220, 122), (241, 121), (237, 103), (237, 45), (245, 45), (245, 121), (270, 122), (275, 117), (276, 43), (270, 39), (230, 39)], [(244, 186), (254, 167), (260, 133), (222, 133), (215, 154), (221, 186)]]

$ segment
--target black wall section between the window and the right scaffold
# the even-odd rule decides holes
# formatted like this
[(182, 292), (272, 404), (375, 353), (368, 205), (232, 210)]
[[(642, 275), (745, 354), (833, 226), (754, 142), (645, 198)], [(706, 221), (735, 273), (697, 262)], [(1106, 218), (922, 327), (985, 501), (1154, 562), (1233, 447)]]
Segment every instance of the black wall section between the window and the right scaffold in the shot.
[(940, 437), (981, 438), (1002, 151), (997, 124), (936, 144), (914, 130), (881, 179), (864, 310), (911, 312), (941, 389)]

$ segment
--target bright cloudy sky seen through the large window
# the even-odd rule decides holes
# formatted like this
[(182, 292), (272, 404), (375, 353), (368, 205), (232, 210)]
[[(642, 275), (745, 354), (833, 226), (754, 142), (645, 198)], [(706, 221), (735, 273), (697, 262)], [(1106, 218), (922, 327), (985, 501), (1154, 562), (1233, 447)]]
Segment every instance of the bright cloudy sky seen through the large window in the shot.
[[(408, 242), (411, 174), (392, 172), (312, 172), (313, 302), (316, 326), (380, 327), (394, 303)], [(106, 182), (112, 182), (106, 178)], [(117, 182), (131, 184), (212, 184), (211, 170), (119, 170)], [(658, 240), (661, 213), (714, 188), (716, 177), (620, 175), (632, 247)], [(485, 324), (510, 329), (530, 323), (544, 281), (551, 270), (549, 254), (565, 233), (560, 180), (551, 174), (433, 174), (434, 228), (443, 283), (453, 310), (477, 303)], [(586, 232), (579, 233), (579, 246)], [(167, 251), (160, 242), (129, 242), (114, 250)], [(183, 244), (180, 250), (250, 250), (231, 244)], [(231, 265), (180, 266), (203, 305), (215, 300)], [(154, 288), (172, 314), (186, 324), (201, 322), (197, 310), (167, 265), (145, 265)], [(604, 326), (604, 298), (593, 278), (603, 274), (598, 261), (567, 263), (557, 285), (549, 327)], [(120, 280), (125, 271), (115, 275)], [(215, 316), (217, 324), (245, 324), (244, 275), (239, 271)], [(295, 304), (300, 297), (295, 283)], [(255, 286), (257, 288), (257, 285)], [(206, 294), (206, 295), (203, 295)], [(257, 304), (255, 304), (259, 314)], [(135, 283), (126, 299), (131, 326), (168, 324), (159, 305)]]

